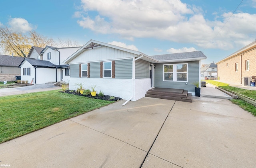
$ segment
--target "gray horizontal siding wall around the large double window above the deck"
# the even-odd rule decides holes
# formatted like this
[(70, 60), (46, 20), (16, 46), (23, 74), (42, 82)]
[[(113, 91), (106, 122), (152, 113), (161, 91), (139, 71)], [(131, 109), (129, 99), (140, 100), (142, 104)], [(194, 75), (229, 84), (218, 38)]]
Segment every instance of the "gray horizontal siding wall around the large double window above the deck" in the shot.
[[(198, 82), (199, 79), (199, 61), (186, 62), (188, 63), (188, 82), (174, 82), (174, 81), (164, 81), (163, 79), (163, 69), (164, 64), (156, 64), (155, 74), (154, 74), (154, 86), (157, 88), (174, 88), (174, 89), (184, 89), (188, 92), (195, 92), (195, 86), (193, 82)], [(170, 63), (172, 64), (172, 63)], [(179, 64), (179, 63), (175, 63)], [(180, 63), (183, 64), (183, 63)], [(187, 83), (187, 84), (186, 84)]]

